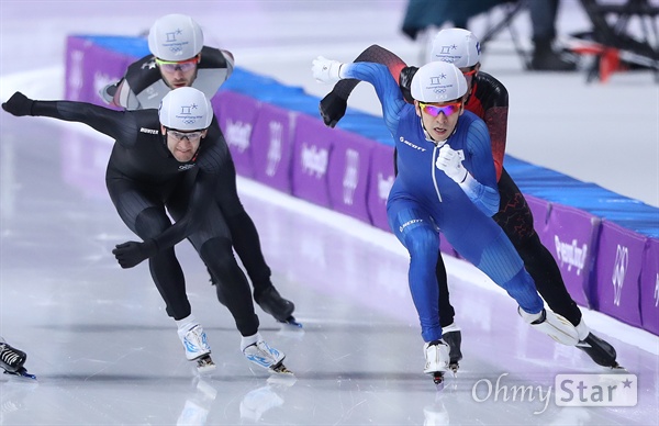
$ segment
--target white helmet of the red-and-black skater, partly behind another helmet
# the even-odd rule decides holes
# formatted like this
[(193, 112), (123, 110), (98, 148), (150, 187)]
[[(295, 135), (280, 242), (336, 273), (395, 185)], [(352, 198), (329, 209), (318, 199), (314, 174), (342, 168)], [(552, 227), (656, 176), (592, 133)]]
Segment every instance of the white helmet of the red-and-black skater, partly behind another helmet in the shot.
[(480, 42), (467, 30), (442, 30), (433, 40), (429, 60), (444, 60), (458, 68), (473, 67), (480, 61)]

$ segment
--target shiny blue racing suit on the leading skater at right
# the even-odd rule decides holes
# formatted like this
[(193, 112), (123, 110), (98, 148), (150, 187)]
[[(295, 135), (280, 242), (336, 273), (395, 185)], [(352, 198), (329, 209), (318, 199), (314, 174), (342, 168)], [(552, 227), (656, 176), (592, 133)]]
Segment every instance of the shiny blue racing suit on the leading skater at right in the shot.
[[(410, 291), (425, 341), (442, 338), (435, 265), (439, 232), (465, 259), (501, 285), (527, 313), (543, 310), (543, 300), (520, 255), (496, 225), (496, 175), (485, 123), (465, 111), (443, 143), (425, 137), (415, 107), (384, 65), (344, 64), (343, 78), (370, 82), (382, 104), (384, 122), (395, 141), (398, 176), (387, 201), (389, 225), (410, 253)], [(456, 183), (435, 165), (444, 143), (465, 156), (469, 172)]]

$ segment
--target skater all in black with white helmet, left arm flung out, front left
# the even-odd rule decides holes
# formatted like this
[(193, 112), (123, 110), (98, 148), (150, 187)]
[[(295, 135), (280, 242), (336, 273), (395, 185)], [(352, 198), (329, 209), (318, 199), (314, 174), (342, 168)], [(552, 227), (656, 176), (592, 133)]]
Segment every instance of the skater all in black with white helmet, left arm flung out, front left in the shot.
[(185, 238), (213, 276), (221, 277), (217, 298), (234, 317), (245, 357), (268, 369), (282, 366), (283, 352), (269, 347), (258, 332), (249, 283), (233, 255), (225, 215), (242, 209), (235, 170), (220, 127), (212, 125), (216, 120), (211, 103), (201, 91), (179, 88), (165, 96), (158, 110), (139, 111), (37, 101), (16, 92), (2, 109), (16, 116), (83, 123), (115, 141), (105, 173), (108, 192), (122, 221), (142, 242), (120, 244), (112, 253), (122, 268), (148, 259), (188, 360), (197, 361), (200, 371), (215, 367), (174, 249)]

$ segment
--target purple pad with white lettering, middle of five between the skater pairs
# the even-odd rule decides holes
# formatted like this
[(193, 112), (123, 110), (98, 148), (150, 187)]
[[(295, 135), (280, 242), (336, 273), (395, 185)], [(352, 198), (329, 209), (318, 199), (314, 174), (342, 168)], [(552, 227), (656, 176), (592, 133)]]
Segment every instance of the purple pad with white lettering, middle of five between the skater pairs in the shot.
[(293, 136), (292, 194), (332, 208), (327, 170), (335, 131), (315, 116), (300, 114)]

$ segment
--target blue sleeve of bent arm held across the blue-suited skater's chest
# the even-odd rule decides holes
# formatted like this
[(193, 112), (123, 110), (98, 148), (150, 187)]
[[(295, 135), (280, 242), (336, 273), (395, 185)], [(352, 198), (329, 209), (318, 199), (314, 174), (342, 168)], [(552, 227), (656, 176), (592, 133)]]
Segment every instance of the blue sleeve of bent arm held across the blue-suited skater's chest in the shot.
[(469, 126), (467, 150), (470, 156), (470, 173), (467, 173), (460, 188), (481, 212), (491, 217), (499, 212), (500, 195), (490, 134), (484, 122), (477, 120)]

